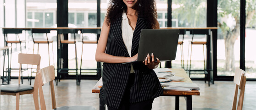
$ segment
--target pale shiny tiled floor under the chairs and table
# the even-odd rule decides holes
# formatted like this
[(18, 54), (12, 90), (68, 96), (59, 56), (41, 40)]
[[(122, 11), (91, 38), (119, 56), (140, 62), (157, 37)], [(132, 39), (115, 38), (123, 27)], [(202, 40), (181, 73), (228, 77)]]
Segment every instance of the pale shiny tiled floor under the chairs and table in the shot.
[[(16, 79), (11, 80), (17, 83)], [(28, 80), (24, 80), (28, 83)], [(57, 106), (88, 105), (99, 109), (98, 93), (91, 93), (91, 89), (97, 80), (82, 80), (80, 86), (76, 86), (75, 80), (61, 80), (55, 86)], [(234, 83), (231, 81), (216, 81), (208, 87), (203, 81), (193, 81), (201, 90), (200, 96), (192, 96), (193, 108), (215, 108), (220, 110), (231, 110), (234, 97)], [(243, 110), (255, 110), (256, 108), (256, 82), (246, 82), (245, 99)], [(49, 84), (43, 87), (47, 110), (51, 110), (51, 98)], [(15, 96), (1, 95), (0, 110), (15, 110)], [(174, 110), (174, 97), (158, 97), (153, 102), (152, 110)], [(20, 97), (20, 110), (34, 110), (32, 94)], [(185, 110), (185, 100), (180, 98), (180, 110)]]

